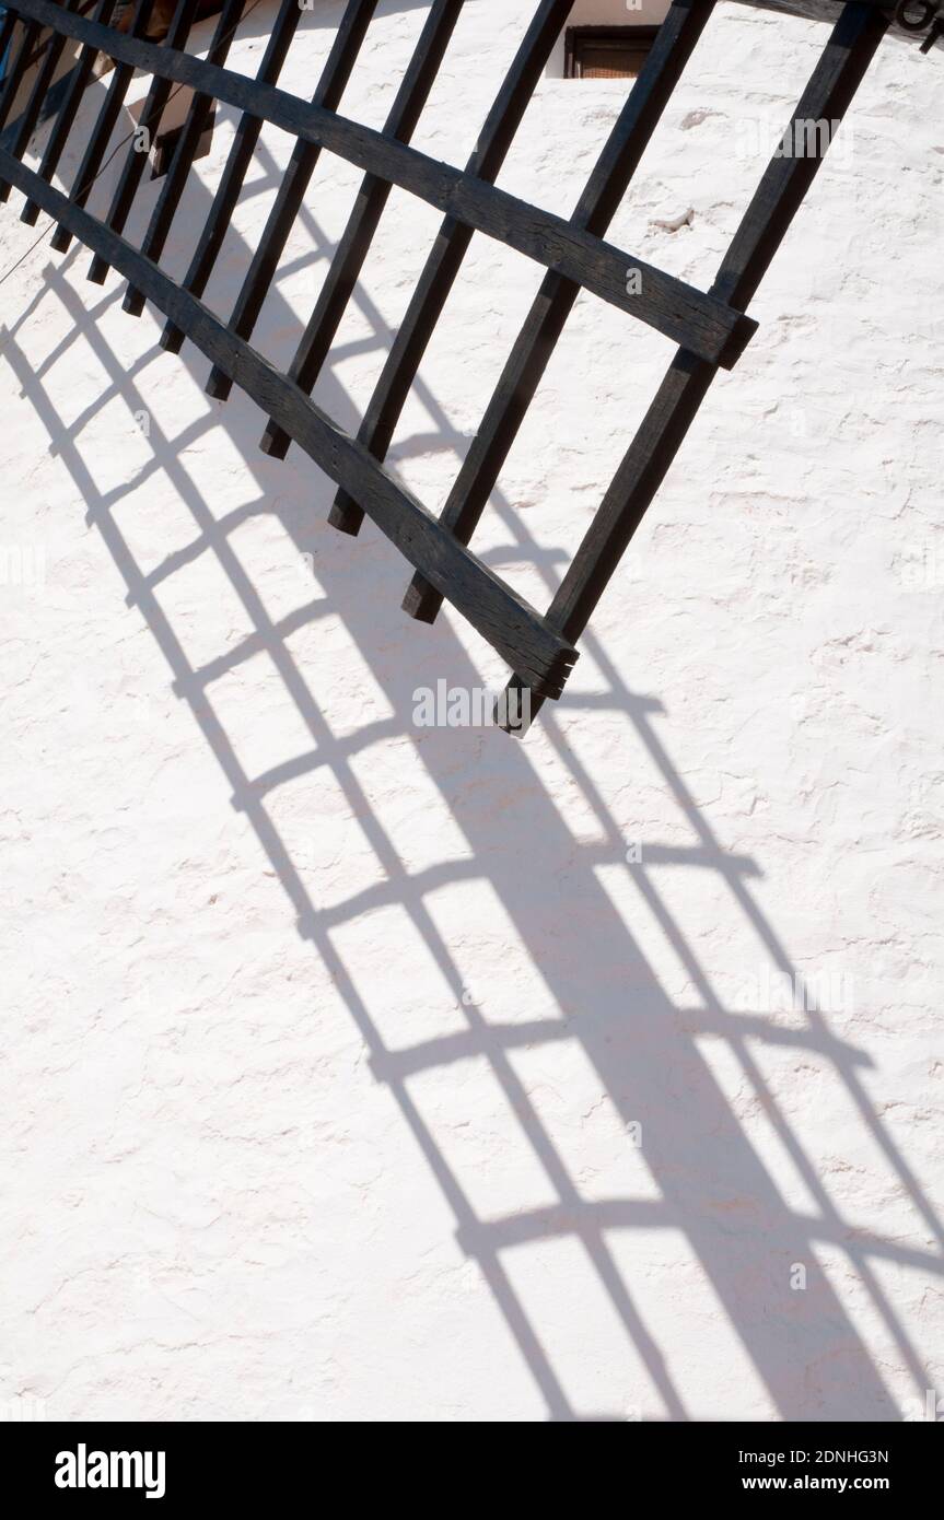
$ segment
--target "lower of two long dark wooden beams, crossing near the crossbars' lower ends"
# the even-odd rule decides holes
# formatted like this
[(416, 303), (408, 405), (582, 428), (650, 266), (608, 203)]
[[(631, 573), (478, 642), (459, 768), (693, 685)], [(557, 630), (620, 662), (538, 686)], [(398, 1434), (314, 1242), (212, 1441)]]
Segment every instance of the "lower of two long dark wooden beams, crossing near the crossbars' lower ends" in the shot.
[(534, 690), (559, 696), (576, 652), (540, 613), (459, 544), (363, 444), (342, 432), (287, 375), (230, 331), (140, 249), (2, 147), (0, 175), (32, 195), (44, 211), (144, 290), (147, 299), (187, 331), (213, 363), (225, 368), (268, 415), (292, 433), (331, 480), (363, 502), (368, 515), (391, 543), (448, 596), (512, 670)]

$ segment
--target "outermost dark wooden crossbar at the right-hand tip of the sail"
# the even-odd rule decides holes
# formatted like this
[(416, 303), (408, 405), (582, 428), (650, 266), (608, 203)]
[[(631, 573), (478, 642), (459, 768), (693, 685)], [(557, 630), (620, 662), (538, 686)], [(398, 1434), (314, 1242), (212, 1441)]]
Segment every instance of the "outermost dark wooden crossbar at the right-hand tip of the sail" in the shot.
[[(876, 6), (847, 5), (794, 112), (794, 122), (839, 122), (888, 30)], [(790, 126), (792, 129), (792, 126)], [(721, 264), (713, 290), (746, 306), (789, 231), (822, 158), (772, 158)], [(584, 632), (613, 572), (663, 483), (716, 368), (684, 348), (672, 360), (603, 502), (587, 529), (547, 619), (572, 643)], [(520, 689), (520, 679), (512, 687)], [(532, 716), (541, 707), (540, 693)]]

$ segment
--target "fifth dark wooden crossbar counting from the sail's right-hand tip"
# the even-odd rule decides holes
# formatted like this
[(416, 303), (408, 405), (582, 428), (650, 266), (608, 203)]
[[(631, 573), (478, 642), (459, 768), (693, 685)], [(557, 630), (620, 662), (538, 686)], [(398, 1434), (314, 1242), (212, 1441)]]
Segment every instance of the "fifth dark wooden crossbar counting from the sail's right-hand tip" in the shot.
[[(377, 0), (348, 0), (341, 26), (334, 35), (331, 52), (324, 65), (318, 90), (312, 103), (327, 111), (336, 111), (341, 97), (351, 78), (357, 55), (363, 47), (368, 27), (377, 9)], [(315, 143), (296, 143), (286, 172), (281, 178), (278, 193), (269, 219), (258, 240), (258, 248), (243, 280), (242, 290), (236, 298), (230, 327), (239, 337), (251, 337), (258, 313), (263, 309), (269, 286), (275, 278), (278, 260), (283, 255), (295, 219), (301, 211), (306, 190), (318, 166), (321, 147)], [(225, 401), (233, 382), (222, 369), (211, 369), (207, 380), (207, 395), (217, 401)]]

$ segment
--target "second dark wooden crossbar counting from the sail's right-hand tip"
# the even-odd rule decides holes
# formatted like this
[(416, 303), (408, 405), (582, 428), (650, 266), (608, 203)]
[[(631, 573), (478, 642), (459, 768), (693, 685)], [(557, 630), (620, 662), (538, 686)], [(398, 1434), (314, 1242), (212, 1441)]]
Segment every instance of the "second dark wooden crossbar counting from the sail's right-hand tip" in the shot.
[[(576, 226), (597, 236), (607, 231), (713, 8), (714, 0), (672, 5), (573, 213)], [(442, 509), (441, 521), (464, 544), (471, 541), (578, 295), (573, 281), (544, 277)], [(442, 597), (413, 576), (403, 606), (432, 623)]]

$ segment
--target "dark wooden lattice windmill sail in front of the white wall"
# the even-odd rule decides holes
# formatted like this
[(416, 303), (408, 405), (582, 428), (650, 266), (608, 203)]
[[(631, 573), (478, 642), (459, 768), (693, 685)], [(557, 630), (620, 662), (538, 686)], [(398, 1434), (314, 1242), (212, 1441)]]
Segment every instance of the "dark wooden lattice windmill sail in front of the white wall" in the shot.
[[(164, 44), (144, 40), (152, 0), (138, 0), (128, 35), (108, 24), (114, 0), (99, 0), (91, 20), (78, 14), (78, 0), (65, 0), (64, 8), (52, 0), (17, 0), (0, 27), (0, 49), (12, 40), (17, 20), (24, 27), (0, 94), (0, 128), (44, 29), (50, 29), (52, 40), (15, 137), (9, 147), (0, 147), (0, 199), (15, 185), (27, 198), (23, 220), (35, 222), (40, 210), (53, 216), (58, 228), (52, 246), (61, 252), (71, 237), (81, 239), (94, 254), (88, 271), (91, 280), (100, 283), (109, 266), (125, 275), (129, 281), (125, 310), (138, 315), (150, 299), (167, 318), (161, 336), (166, 350), (179, 351), (184, 337), (190, 337), (211, 359), (214, 368), (207, 386), (211, 395), (225, 398), (234, 383), (242, 386), (269, 415), (263, 450), (283, 458), (295, 441), (336, 482), (333, 526), (356, 534), (366, 514), (413, 565), (406, 611), (432, 622), (442, 600), (448, 600), (508, 661), (512, 687), (532, 693), (534, 713), (544, 698), (561, 695), (578, 657), (576, 640), (657, 494), (711, 380), (719, 368), (737, 362), (756, 331), (757, 324), (745, 315), (746, 307), (819, 169), (828, 138), (813, 134), (815, 152), (807, 157), (775, 155), (771, 160), (711, 289), (701, 292), (613, 246), (605, 233), (711, 15), (713, 0), (673, 0), (570, 219), (529, 205), (499, 190), (494, 181), (573, 0), (541, 0), (537, 6), (464, 170), (409, 146), (462, 3), (432, 0), (385, 129), (377, 132), (339, 112), (377, 0), (348, 0), (310, 103), (278, 88), (303, 14), (299, 0), (283, 0), (255, 79), (225, 68), (230, 43), (248, 9), (246, 0), (223, 5), (207, 61), (184, 50), (198, 0), (178, 0)], [(882, 0), (853, 0), (844, 6), (787, 131), (797, 122), (842, 120), (889, 26), (892, 9)], [(926, 24), (930, 24), (933, 6), (924, 9), (929, 11)], [(81, 43), (82, 52), (40, 169), (33, 170), (21, 157), (67, 38)], [(112, 58), (116, 67), (73, 187), (64, 195), (53, 187), (52, 178), (99, 53)], [(140, 248), (122, 236), (146, 163), (134, 144), (108, 214), (96, 217), (87, 210), (135, 68), (152, 76), (144, 123), (160, 120), (175, 84), (195, 91)], [(178, 283), (161, 271), (158, 260), (214, 100), (243, 114), (190, 269)], [(236, 307), (223, 322), (201, 296), (263, 122), (292, 134), (296, 146)], [(363, 169), (365, 179), (296, 356), (283, 374), (251, 347), (249, 337), (322, 150)], [(310, 400), (310, 394), (394, 185), (442, 210), (445, 220), (353, 438)], [(383, 461), (476, 231), (535, 260), (546, 275), (442, 514), (436, 517), (385, 468)], [(541, 613), (489, 570), (468, 544), (581, 289), (657, 328), (679, 347), (559, 590)]]

